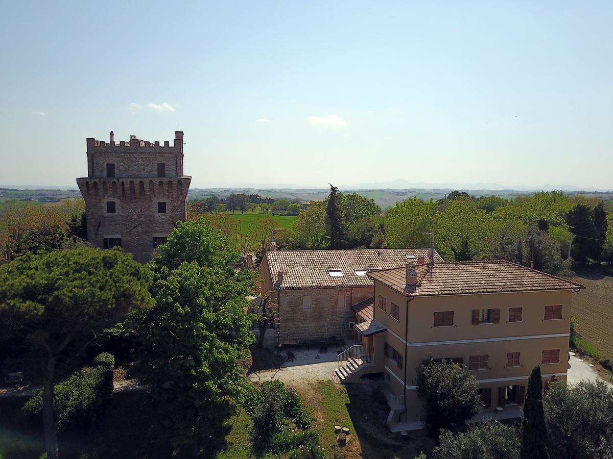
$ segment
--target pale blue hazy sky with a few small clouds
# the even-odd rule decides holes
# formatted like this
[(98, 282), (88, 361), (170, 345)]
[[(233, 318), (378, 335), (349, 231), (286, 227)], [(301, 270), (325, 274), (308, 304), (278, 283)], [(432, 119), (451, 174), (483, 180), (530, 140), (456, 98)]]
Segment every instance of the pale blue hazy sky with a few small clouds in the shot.
[[(196, 4), (197, 3), (197, 4)], [(613, 3), (0, 4), (0, 184), (185, 132), (192, 187), (613, 187)]]

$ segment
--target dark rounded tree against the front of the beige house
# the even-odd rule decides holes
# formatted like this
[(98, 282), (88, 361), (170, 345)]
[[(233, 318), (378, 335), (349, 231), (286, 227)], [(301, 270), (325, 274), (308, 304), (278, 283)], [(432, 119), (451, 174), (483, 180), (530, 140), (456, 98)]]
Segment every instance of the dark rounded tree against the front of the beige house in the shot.
[(424, 404), (424, 426), (432, 436), (465, 424), (483, 408), (477, 379), (451, 360), (417, 367), (417, 396)]

